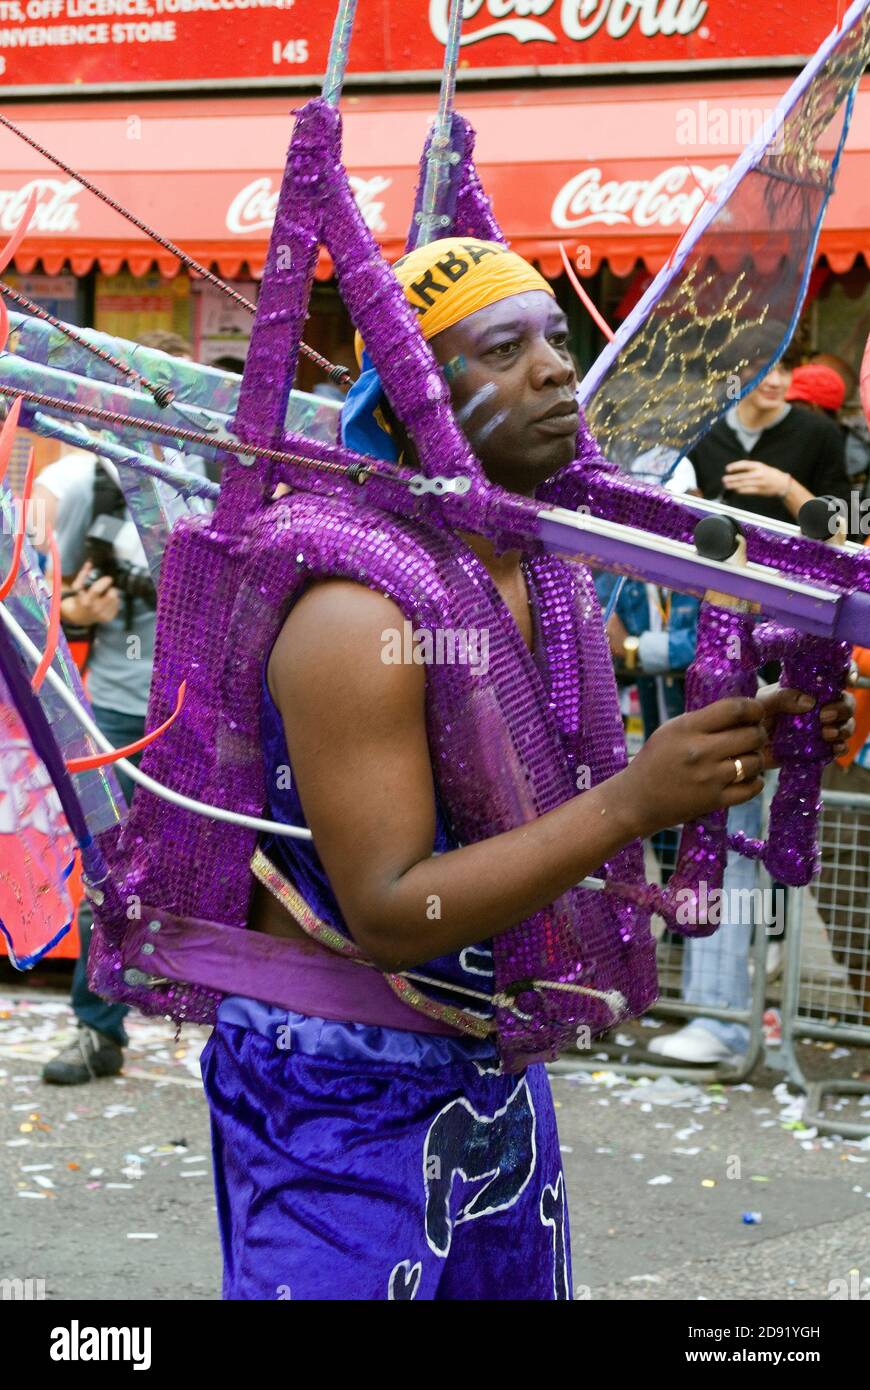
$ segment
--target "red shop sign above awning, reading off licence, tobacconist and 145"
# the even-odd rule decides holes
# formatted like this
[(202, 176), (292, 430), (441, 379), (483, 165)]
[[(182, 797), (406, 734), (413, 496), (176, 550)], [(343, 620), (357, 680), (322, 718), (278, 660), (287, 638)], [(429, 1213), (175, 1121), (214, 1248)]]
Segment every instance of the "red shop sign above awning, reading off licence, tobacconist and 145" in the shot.
[[(0, 92), (307, 86), (338, 0), (0, 0)], [(844, 0), (845, 6), (845, 0)], [(449, 0), (364, 0), (347, 82), (439, 76)], [(835, 0), (464, 0), (460, 72), (623, 72), (809, 57)], [(243, 39), (239, 38), (243, 29)]]

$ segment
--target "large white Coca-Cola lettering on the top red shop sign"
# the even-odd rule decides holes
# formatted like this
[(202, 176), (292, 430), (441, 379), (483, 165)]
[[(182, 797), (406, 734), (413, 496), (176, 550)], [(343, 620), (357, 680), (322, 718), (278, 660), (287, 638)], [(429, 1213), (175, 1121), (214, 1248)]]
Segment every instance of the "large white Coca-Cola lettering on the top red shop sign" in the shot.
[[(582, 43), (596, 33), (624, 39), (634, 26), (645, 39), (657, 35), (693, 33), (707, 13), (707, 0), (466, 0), (463, 18), (495, 19), (479, 29), (466, 29), (460, 43), (507, 38), (517, 43), (557, 43), (557, 25), (566, 39)], [(439, 43), (448, 42), (450, 0), (429, 0), (429, 28)], [(543, 15), (549, 22), (542, 24)], [(534, 17), (534, 18), (532, 18)]]

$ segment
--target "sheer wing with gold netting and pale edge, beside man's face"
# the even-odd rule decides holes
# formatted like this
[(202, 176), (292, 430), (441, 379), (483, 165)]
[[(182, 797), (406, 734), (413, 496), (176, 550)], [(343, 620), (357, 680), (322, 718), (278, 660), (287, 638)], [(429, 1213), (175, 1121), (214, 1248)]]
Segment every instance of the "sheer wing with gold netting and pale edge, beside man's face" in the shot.
[(856, 0), (584, 378), (609, 459), (666, 474), (785, 350), (869, 57)]

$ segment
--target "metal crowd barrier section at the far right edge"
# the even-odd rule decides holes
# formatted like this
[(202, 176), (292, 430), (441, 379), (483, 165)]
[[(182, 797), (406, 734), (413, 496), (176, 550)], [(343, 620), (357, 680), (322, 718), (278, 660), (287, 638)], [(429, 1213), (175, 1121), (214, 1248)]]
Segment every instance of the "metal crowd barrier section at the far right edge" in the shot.
[(870, 1048), (870, 795), (823, 792), (820, 849), (820, 874), (789, 903), (782, 1061), (789, 1080), (806, 1091), (806, 1125), (863, 1138), (870, 1134), (870, 1109), (853, 1112), (855, 1102), (870, 1095), (870, 1080), (807, 1074), (826, 1054), (801, 1044)]

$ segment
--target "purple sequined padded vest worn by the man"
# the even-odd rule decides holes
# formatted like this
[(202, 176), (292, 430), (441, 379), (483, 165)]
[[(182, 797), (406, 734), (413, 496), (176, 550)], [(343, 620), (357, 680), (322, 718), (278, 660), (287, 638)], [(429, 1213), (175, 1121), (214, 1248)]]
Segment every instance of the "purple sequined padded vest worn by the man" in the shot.
[[(197, 518), (195, 543), (227, 541)], [(488, 632), (488, 669), (432, 664), (427, 670), (427, 721), (435, 784), (463, 842), (489, 838), (552, 810), (578, 787), (595, 785), (625, 762), (625, 745), (606, 637), (586, 570), (550, 556), (528, 559), (545, 663), (535, 657), (477, 556), (453, 532), (389, 517), (359, 502), (296, 493), (252, 518), (236, 543), (235, 580), (227, 575), (227, 630), (197, 631), (197, 595), (207, 564), (181, 569), (190, 555), (174, 534), (160, 592), (156, 688), (188, 676), (190, 716), (147, 749), (143, 770), (218, 805), (250, 815), (265, 806), (258, 744), (265, 653), (293, 599), (315, 577), (342, 575), (393, 599), (416, 630)], [(284, 595), (284, 606), (279, 602)], [(214, 602), (214, 595), (210, 595)], [(181, 624), (185, 624), (182, 634)], [(163, 648), (163, 651), (161, 651)], [(185, 653), (168, 671), (165, 655)], [(160, 689), (163, 684), (163, 691)], [(193, 717), (196, 716), (196, 717)], [(156, 721), (150, 712), (149, 724)], [(179, 785), (179, 769), (199, 776)], [(183, 739), (183, 746), (181, 741)], [(172, 742), (175, 741), (175, 759)], [(182, 753), (179, 758), (178, 753)], [(193, 756), (192, 756), (193, 755)], [(213, 935), (246, 926), (256, 845), (253, 831), (197, 817), (138, 790), (124, 827), (115, 873), (135, 906), (133, 924), (96, 919), (92, 979), (101, 990), (150, 1012), (210, 1019), (217, 997), (199, 987), (150, 977), (149, 955), (164, 924), (192, 919)], [(175, 852), (174, 852), (175, 851)], [(639, 844), (605, 866), (623, 881), (642, 880)], [(154, 935), (149, 935), (154, 933)], [(193, 938), (195, 934), (193, 934)], [(495, 941), (499, 1045), (506, 1065), (552, 1055), (580, 1029), (595, 1036), (639, 1013), (655, 998), (655, 947), (649, 917), (616, 897), (573, 890)], [(264, 981), (267, 987), (267, 981)], [(263, 995), (268, 998), (267, 994)]]

